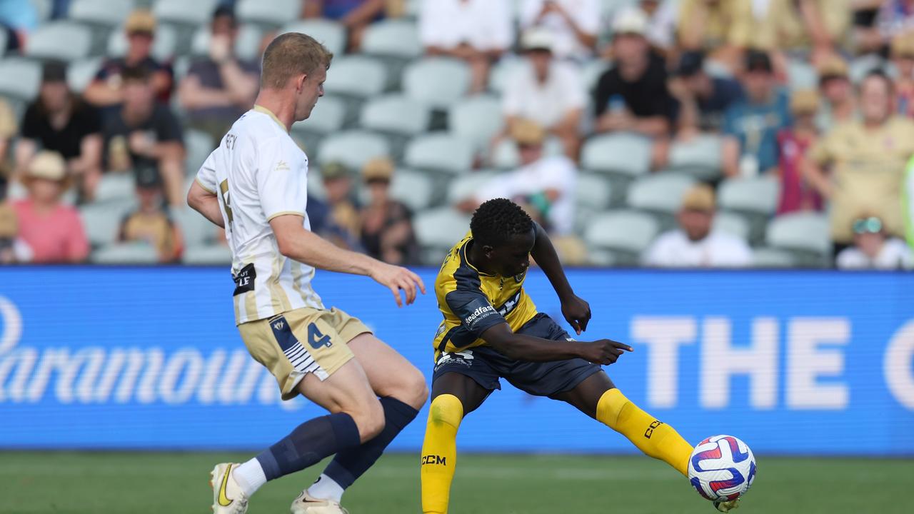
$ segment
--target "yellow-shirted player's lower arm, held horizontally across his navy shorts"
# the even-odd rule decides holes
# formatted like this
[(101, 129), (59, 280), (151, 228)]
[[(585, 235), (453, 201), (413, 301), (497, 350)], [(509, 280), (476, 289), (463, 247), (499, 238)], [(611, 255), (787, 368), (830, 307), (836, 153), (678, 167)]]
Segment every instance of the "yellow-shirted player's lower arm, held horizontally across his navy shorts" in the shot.
[(483, 332), (483, 339), (489, 346), (509, 359), (530, 362), (580, 358), (594, 364), (612, 364), (619, 359), (623, 351), (632, 351), (632, 347), (610, 339), (593, 342), (553, 341), (515, 334), (507, 323), (499, 323), (486, 328)]

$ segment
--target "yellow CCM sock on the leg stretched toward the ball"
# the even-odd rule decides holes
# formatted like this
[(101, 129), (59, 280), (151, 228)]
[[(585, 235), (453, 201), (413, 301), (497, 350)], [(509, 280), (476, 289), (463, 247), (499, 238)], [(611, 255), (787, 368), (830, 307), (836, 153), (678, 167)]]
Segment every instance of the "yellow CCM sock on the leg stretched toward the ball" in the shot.
[(660, 459), (687, 475), (692, 445), (672, 426), (629, 402), (622, 391), (611, 389), (603, 393), (597, 402), (597, 420), (627, 437), (645, 455)]

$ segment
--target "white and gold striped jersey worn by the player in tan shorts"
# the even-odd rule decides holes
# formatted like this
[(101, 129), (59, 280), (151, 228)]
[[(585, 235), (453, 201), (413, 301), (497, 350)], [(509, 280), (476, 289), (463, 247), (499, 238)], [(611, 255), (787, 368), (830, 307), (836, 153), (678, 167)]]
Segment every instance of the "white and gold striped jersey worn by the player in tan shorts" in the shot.
[(308, 157), (267, 109), (255, 106), (235, 122), (197, 172), (197, 182), (217, 195), (232, 255), (237, 324), (300, 307), (324, 308), (314, 293), (314, 268), (279, 251), (270, 220), (303, 217)]

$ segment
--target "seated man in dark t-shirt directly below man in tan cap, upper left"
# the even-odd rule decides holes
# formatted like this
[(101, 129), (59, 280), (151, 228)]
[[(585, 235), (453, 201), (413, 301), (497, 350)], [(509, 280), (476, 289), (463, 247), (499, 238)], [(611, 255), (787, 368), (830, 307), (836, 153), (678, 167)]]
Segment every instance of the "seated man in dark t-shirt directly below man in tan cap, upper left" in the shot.
[(123, 103), (103, 122), (107, 169), (158, 169), (165, 198), (185, 205), (184, 143), (181, 124), (167, 105), (155, 102), (149, 70), (123, 70)]

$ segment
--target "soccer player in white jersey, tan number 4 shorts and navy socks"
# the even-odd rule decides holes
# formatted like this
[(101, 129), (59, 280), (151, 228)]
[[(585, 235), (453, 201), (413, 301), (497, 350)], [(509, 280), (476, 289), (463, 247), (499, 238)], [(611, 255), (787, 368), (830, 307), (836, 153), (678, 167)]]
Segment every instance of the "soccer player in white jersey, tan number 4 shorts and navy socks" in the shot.
[[(292, 514), (345, 512), (346, 487), (372, 466), (428, 396), (418, 369), (355, 317), (321, 303), (314, 268), (368, 275), (397, 305), (425, 286), (406, 268), (348, 252), (309, 230), (308, 158), (289, 137), (324, 95), (333, 55), (312, 37), (283, 34), (263, 54), (260, 94), (200, 168), (187, 203), (225, 227), (235, 279), (235, 319), (251, 357), (270, 369), (282, 398), (298, 394), (329, 415), (243, 464), (212, 472), (213, 510), (243, 514), (268, 480), (335, 455), (292, 502)], [(218, 425), (214, 427), (218, 430)]]

